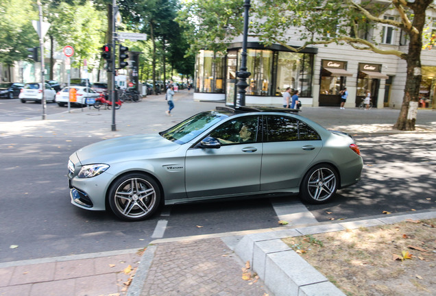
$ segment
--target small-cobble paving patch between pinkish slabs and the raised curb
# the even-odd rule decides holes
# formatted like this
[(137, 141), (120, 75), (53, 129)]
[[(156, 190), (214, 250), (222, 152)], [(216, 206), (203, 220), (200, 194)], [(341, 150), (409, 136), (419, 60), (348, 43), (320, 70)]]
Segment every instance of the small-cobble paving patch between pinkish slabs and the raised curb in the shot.
[[(174, 255), (171, 255), (174, 254)], [(168, 266), (167, 264), (171, 264)], [(169, 269), (167, 269), (169, 267)], [(242, 280), (242, 262), (220, 238), (157, 245), (142, 296), (263, 296), (260, 280)]]

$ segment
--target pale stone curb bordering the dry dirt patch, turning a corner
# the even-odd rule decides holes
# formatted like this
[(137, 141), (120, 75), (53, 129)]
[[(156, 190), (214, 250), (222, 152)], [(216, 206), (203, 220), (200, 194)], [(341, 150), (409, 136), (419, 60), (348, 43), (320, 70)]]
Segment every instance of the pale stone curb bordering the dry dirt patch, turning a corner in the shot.
[(281, 238), (393, 224), (406, 219), (433, 218), (436, 218), (436, 211), (250, 234), (244, 236), (234, 251), (243, 262), (250, 261), (253, 271), (258, 273), (269, 291), (276, 296), (345, 296), (324, 275), (283, 243)]

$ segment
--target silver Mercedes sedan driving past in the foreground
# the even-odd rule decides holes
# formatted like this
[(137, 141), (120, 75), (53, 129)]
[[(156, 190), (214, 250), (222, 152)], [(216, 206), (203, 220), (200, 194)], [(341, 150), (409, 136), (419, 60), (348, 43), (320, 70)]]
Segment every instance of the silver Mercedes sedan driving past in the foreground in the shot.
[(360, 180), (359, 147), (295, 113), (217, 107), (160, 133), (88, 145), (69, 158), (71, 203), (125, 221), (163, 204), (269, 193), (324, 203)]

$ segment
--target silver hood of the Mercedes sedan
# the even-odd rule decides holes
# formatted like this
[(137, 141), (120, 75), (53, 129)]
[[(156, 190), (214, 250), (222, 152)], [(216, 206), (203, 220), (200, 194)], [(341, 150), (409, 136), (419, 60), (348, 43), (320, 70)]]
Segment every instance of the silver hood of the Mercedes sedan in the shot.
[(180, 145), (159, 134), (125, 136), (97, 142), (75, 151), (82, 164), (107, 163), (147, 158), (156, 153), (175, 151)]

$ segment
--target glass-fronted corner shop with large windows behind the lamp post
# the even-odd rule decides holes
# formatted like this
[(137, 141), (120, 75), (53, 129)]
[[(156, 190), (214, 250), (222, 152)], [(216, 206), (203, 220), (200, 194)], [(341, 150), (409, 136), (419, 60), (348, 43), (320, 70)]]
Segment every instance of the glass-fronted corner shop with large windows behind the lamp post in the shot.
[[(228, 47), (227, 55), (202, 50), (195, 64), (194, 99), (236, 101), (237, 71), (241, 66), (241, 43)], [(265, 47), (258, 42), (247, 45), (247, 105), (282, 105), (282, 92), (287, 87), (300, 90), (300, 97), (312, 103), (313, 60), (317, 49), (295, 53), (286, 47)], [(207, 93), (207, 95), (206, 95)], [(222, 95), (221, 95), (222, 94)]]

